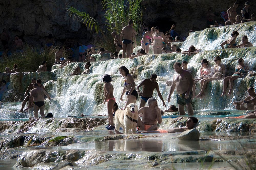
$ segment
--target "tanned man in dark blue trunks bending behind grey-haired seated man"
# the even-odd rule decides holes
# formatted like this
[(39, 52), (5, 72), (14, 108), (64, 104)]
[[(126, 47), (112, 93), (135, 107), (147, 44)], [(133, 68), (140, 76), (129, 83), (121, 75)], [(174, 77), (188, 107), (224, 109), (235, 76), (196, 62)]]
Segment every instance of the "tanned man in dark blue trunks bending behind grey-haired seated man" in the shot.
[[(156, 82), (157, 75), (152, 74), (150, 79), (145, 79), (143, 80), (138, 86), (137, 86), (137, 91), (138, 94), (141, 96), (141, 104), (140, 108), (144, 107), (147, 100), (149, 98), (153, 97), (153, 91), (156, 89), (158, 96), (163, 102), (163, 106), (166, 107), (164, 99), (162, 97), (162, 94), (159, 91), (159, 86), (158, 83)], [(140, 91), (140, 87), (142, 86), (142, 92)]]

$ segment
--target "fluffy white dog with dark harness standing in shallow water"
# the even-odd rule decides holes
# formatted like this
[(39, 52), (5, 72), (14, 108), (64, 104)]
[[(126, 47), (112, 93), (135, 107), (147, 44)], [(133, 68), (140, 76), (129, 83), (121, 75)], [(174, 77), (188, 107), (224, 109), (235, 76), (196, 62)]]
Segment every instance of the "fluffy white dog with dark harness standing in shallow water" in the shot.
[(117, 110), (115, 112), (115, 129), (119, 130), (120, 126), (123, 128), (123, 133), (136, 132), (138, 122), (138, 107), (134, 103), (130, 103), (125, 110)]

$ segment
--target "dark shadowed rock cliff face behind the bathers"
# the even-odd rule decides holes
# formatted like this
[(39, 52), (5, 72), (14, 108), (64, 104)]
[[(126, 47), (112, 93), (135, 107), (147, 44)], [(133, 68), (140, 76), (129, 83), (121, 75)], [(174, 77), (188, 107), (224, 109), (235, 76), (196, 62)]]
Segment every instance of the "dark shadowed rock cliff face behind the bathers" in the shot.
[[(30, 43), (40, 43), (49, 33), (56, 40), (72, 38), (85, 41), (92, 40), (93, 35), (85, 25), (73, 20), (67, 13), (68, 6), (85, 11), (95, 18), (101, 25), (102, 1), (100, 0), (3, 0), (0, 2), (0, 32), (7, 28), (11, 40), (14, 35), (22, 35)], [(238, 1), (240, 6), (237, 11), (241, 13), (245, 1)], [(148, 27), (158, 26), (160, 31), (169, 31), (172, 24), (176, 24), (176, 31), (181, 36), (187, 36), (188, 30), (202, 30), (207, 27), (206, 12), (209, 8), (216, 15), (215, 20), (223, 22), (220, 12), (226, 11), (233, 2), (222, 0), (151, 0), (143, 1), (143, 22)], [(250, 13), (255, 12), (255, 3), (251, 2)], [(94, 33), (94, 31), (92, 31)]]

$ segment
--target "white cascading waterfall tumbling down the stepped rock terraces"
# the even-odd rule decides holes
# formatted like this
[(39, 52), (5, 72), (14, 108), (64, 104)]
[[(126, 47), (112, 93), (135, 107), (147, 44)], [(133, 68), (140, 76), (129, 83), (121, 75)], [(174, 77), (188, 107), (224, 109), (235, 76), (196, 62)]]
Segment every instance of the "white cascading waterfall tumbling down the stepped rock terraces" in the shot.
[[(182, 54), (161, 54), (161, 55), (145, 55), (134, 59), (114, 59), (101, 62), (92, 62), (91, 74), (69, 76), (69, 74), (79, 66), (84, 69), (84, 63), (69, 63), (64, 68), (58, 68), (55, 65), (52, 67), (52, 73), (55, 74), (57, 80), (49, 80), (44, 84), (46, 90), (50, 93), (52, 100), (46, 99), (46, 112), (52, 112), (55, 117), (65, 117), (68, 115), (78, 116), (81, 113), (84, 115), (106, 114), (106, 106), (102, 104), (104, 99), (102, 76), (110, 74), (113, 78), (114, 97), (122, 108), (125, 101), (119, 101), (123, 89), (124, 78), (121, 77), (118, 68), (125, 66), (130, 70), (130, 73), (135, 77), (135, 83), (138, 85), (142, 80), (149, 79), (151, 74), (157, 74), (157, 82), (160, 92), (167, 102), (170, 87), (166, 86), (165, 81), (172, 80), (175, 71), (173, 64), (175, 62), (188, 61), (188, 69), (191, 70), (193, 77), (199, 76), (201, 67), (200, 60), (206, 58), (210, 61), (210, 66), (214, 66), (214, 57), (220, 56), (222, 63), (226, 65), (227, 75), (232, 75), (237, 66), (237, 59), (244, 58), (244, 62), (249, 64), (250, 70), (255, 70), (255, 54), (256, 47), (239, 48), (239, 49), (220, 49), (220, 43), (225, 41), (233, 30), (237, 30), (240, 35), (237, 38), (241, 40), (242, 35), (247, 35), (250, 42), (256, 45), (255, 34), (256, 22), (248, 22), (244, 24), (229, 25), (218, 28), (207, 28), (203, 31), (191, 33), (187, 40), (183, 43), (182, 48), (187, 49), (190, 45), (200, 48), (204, 51), (194, 55), (187, 56)], [(239, 43), (238, 43), (239, 44)], [(24, 73), (23, 73), (24, 74)], [(11, 76), (14, 80), (15, 76)], [(51, 76), (52, 77), (52, 76)], [(14, 83), (14, 82), (13, 82)], [(27, 82), (29, 83), (29, 82)], [(194, 98), (194, 110), (230, 110), (234, 109), (232, 101), (238, 101), (247, 96), (246, 88), (249, 86), (255, 87), (255, 77), (246, 77), (238, 79), (234, 82), (234, 91), (230, 96), (220, 97), (223, 88), (223, 80), (212, 81), (208, 83), (205, 90), (206, 97), (203, 99)], [(200, 91), (200, 84), (197, 84), (196, 95)], [(153, 97), (157, 98), (158, 106), (165, 110), (162, 106), (162, 101), (154, 91)], [(123, 97), (126, 98), (125, 96)], [(136, 102), (138, 105), (140, 99)], [(171, 97), (168, 106), (174, 104), (177, 106), (176, 91)], [(167, 107), (168, 107), (167, 106)], [(11, 108), (18, 106), (10, 106)], [(10, 109), (12, 110), (12, 109)], [(5, 115), (4, 112), (10, 112), (8, 109), (0, 109), (0, 118), (11, 118)]]

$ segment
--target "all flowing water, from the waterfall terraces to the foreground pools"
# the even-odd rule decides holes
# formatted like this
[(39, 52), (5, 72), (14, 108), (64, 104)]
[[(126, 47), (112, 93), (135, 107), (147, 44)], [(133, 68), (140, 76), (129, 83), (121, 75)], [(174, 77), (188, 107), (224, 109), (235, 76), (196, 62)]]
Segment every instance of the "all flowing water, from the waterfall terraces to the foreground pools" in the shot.
[[(18, 102), (18, 100), (23, 99), (22, 96), (26, 91), (26, 87), (30, 83), (30, 79), (32, 77), (36, 77), (42, 79), (46, 91), (51, 95), (52, 98), (51, 100), (45, 100), (46, 113), (52, 112), (54, 117), (59, 118), (54, 119), (54, 121), (51, 123), (47, 123), (45, 120), (39, 120), (36, 126), (26, 130), (24, 135), (74, 135), (77, 142), (67, 146), (46, 148), (44, 148), (44, 146), (30, 147), (28, 151), (26, 147), (21, 147), (18, 149), (19, 151), (17, 151), (20, 153), (20, 155), (24, 156), (29, 154), (29, 151), (32, 152), (36, 149), (46, 149), (49, 152), (55, 151), (56, 153), (62, 153), (66, 150), (83, 150), (85, 153), (83, 153), (82, 159), (74, 161), (76, 162), (75, 168), (79, 168), (81, 166), (84, 168), (90, 168), (90, 165), (93, 165), (92, 168), (94, 169), (104, 167), (107, 167), (106, 169), (130, 169), (130, 164), (133, 164), (134, 167), (147, 169), (148, 167), (151, 167), (151, 165), (148, 164), (151, 164), (152, 160), (156, 160), (158, 162), (160, 161), (161, 165), (165, 168), (170, 166), (172, 161), (176, 161), (175, 167), (178, 169), (183, 168), (183, 166), (185, 169), (189, 169), (191, 167), (197, 168), (195, 162), (200, 162), (199, 157), (206, 156), (205, 153), (208, 150), (212, 149), (216, 152), (221, 150), (232, 150), (234, 148), (234, 146), (232, 146), (232, 142), (234, 141), (230, 141), (228, 139), (223, 141), (209, 139), (196, 142), (183, 142), (176, 138), (177, 134), (146, 134), (144, 135), (145, 137), (136, 139), (127, 138), (123, 140), (99, 140), (109, 136), (107, 134), (108, 132), (104, 130), (105, 126), (103, 127), (103, 125), (91, 128), (91, 131), (70, 131), (67, 133), (67, 131), (62, 131), (63, 129), (58, 130), (60, 129), (59, 122), (66, 120), (63, 117), (80, 116), (81, 113), (89, 116), (106, 114), (106, 105), (102, 104), (104, 99), (104, 83), (102, 82), (102, 76), (104, 74), (111, 75), (113, 79), (112, 84), (114, 86), (114, 97), (116, 98), (119, 108), (122, 108), (125, 105), (125, 100), (119, 101), (119, 99), (123, 89), (124, 78), (121, 77), (118, 71), (120, 66), (125, 66), (130, 70), (130, 73), (135, 77), (134, 81), (136, 85), (138, 85), (144, 79), (149, 79), (152, 74), (157, 74), (159, 90), (164, 98), (164, 101), (166, 102), (170, 86), (166, 86), (165, 82), (173, 79), (173, 75), (175, 74), (173, 64), (175, 62), (182, 62), (184, 60), (188, 61), (188, 69), (191, 71), (193, 77), (198, 77), (200, 74), (199, 69), (201, 67), (201, 59), (205, 58), (209, 60), (210, 65), (213, 66), (215, 64), (215, 56), (221, 57), (222, 63), (224, 63), (226, 66), (227, 75), (232, 75), (234, 73), (235, 67), (237, 66), (237, 59), (240, 57), (243, 58), (244, 62), (250, 66), (250, 71), (255, 71), (256, 47), (220, 49), (221, 42), (225, 41), (233, 30), (237, 30), (240, 33), (239, 37), (237, 38), (238, 44), (241, 41), (242, 35), (247, 35), (248, 40), (252, 42), (254, 46), (256, 46), (255, 29), (256, 22), (248, 22), (219, 28), (207, 28), (202, 31), (190, 33), (186, 41), (179, 43), (179, 45), (183, 50), (188, 49), (190, 45), (194, 45), (196, 48), (202, 49), (202, 52), (191, 57), (182, 54), (160, 54), (145, 55), (134, 59), (114, 59), (91, 62), (91, 74), (86, 75), (69, 76), (69, 74), (77, 66), (80, 66), (80, 68), (84, 70), (84, 63), (70, 63), (64, 68), (58, 68), (59, 66), (54, 65), (51, 72), (45, 73), (30, 72), (11, 74), (10, 77), (5, 77), (5, 79), (10, 80), (10, 85), (8, 87), (9, 91), (5, 94), (5, 98), (3, 100), (5, 102), (1, 104), (0, 120), (2, 122), (7, 120), (15, 122), (15, 126), (12, 125), (12, 127), (6, 128), (6, 130), (2, 132), (2, 136), (0, 136), (1, 140), (14, 137), (14, 134), (18, 133), (18, 130), (20, 130), (22, 127), (23, 122), (20, 121), (27, 121), (29, 117), (33, 116), (32, 112), (18, 112), (21, 107), (21, 102)], [(134, 51), (136, 51), (138, 48), (140, 47), (136, 47)], [(3, 77), (6, 75), (0, 76)], [(244, 114), (244, 111), (235, 111), (232, 102), (245, 98), (248, 95), (246, 89), (250, 86), (256, 87), (255, 85), (255, 76), (247, 76), (244, 79), (239, 78), (234, 81), (234, 90), (232, 94), (230, 96), (220, 97), (223, 88), (223, 80), (212, 81), (209, 83), (205, 90), (206, 97), (203, 99), (195, 98), (192, 102), (195, 115), (200, 121), (197, 127), (201, 132), (200, 138), (210, 138), (209, 136), (230, 136), (235, 138), (239, 138), (239, 136), (251, 137), (253, 133), (245, 134), (243, 132), (255, 132), (254, 121), (227, 120), (223, 118), (227, 115), (238, 116)], [(196, 86), (196, 94), (198, 94), (199, 91), (200, 84), (198, 83)], [(168, 106), (172, 104), (177, 106), (176, 91), (171, 96), (170, 103), (166, 103), (166, 108), (162, 105), (162, 101), (157, 96), (156, 91), (154, 91), (153, 97), (157, 98), (158, 106), (162, 110), (166, 110)], [(139, 103), (140, 99), (137, 100), (136, 104)], [(174, 119), (179, 119), (177, 117), (178, 115), (173, 116), (165, 113), (160, 128), (183, 127), (183, 120), (174, 121)], [(246, 143), (247, 140), (248, 139), (242, 139), (241, 142)], [(145, 145), (145, 143), (147, 143), (147, 145)], [(239, 151), (242, 148), (241, 146), (237, 146), (236, 149)], [(90, 153), (94, 151), (99, 155), (98, 157), (97, 155)], [(189, 158), (185, 156), (191, 154), (188, 152), (193, 151), (197, 152), (195, 154), (196, 156), (193, 157), (194, 159), (192, 159), (191, 156)], [(129, 154), (131, 154), (130, 157)], [(174, 160), (173, 158), (164, 158), (168, 154), (179, 155), (179, 160)], [(156, 155), (156, 158), (149, 159), (150, 155)], [(213, 153), (212, 155), (214, 155), (214, 158), (216, 157), (216, 159), (219, 159), (216, 153)], [(161, 160), (161, 157), (164, 158), (165, 161)], [(96, 160), (102, 161), (95, 164)], [(206, 161), (204, 165), (206, 167), (210, 166), (211, 161), (212, 159), (208, 160), (208, 162)], [(37, 165), (37, 168), (49, 169), (55, 165), (54, 162), (57, 163), (60, 162), (60, 160), (56, 158), (55, 161), (45, 164), (45, 166)], [(187, 162), (187, 164), (184, 165), (182, 162)], [(223, 160), (220, 162), (222, 163), (215, 163), (213, 167), (230, 167), (229, 164), (223, 163)], [(5, 169), (8, 169), (11, 165), (14, 165), (14, 163), (12, 161), (8, 161), (6, 165), (3, 165), (2, 161), (0, 161), (0, 168), (2, 166), (5, 167)]]

